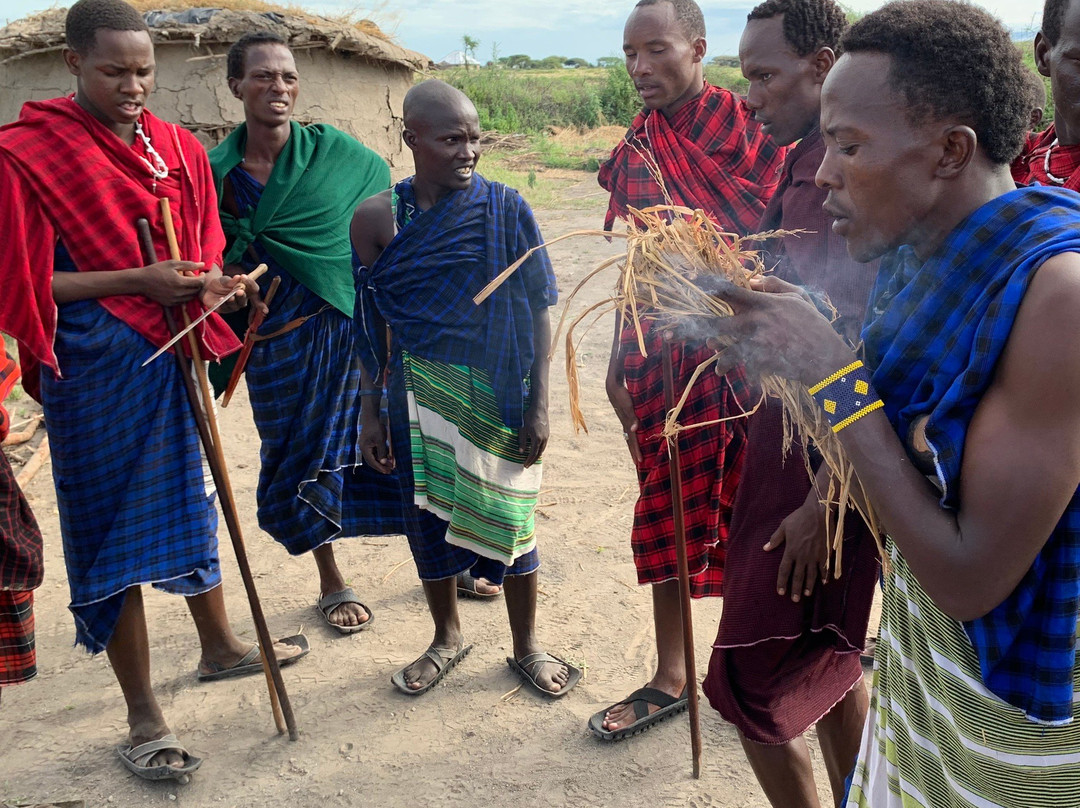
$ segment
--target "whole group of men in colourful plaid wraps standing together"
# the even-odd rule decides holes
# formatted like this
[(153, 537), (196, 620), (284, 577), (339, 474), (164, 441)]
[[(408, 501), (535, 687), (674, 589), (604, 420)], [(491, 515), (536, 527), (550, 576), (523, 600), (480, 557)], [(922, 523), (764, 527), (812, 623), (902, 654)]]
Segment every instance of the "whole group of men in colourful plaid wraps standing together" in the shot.
[[(582, 672), (536, 632), (555, 275), (537, 251), (472, 302), (542, 238), (521, 197), (475, 171), (471, 102), (438, 81), (408, 93), (416, 171), (391, 188), (355, 140), (292, 120), (299, 73), (274, 35), (230, 51), (245, 123), (208, 158), (144, 108), (153, 49), (137, 12), (79, 0), (67, 38), (76, 94), (28, 104), (0, 130), (0, 220), (49, 237), (15, 239), (0, 258), (14, 289), (0, 331), (18, 338), (28, 376), (43, 365), (77, 641), (108, 652), (123, 689), (124, 764), (157, 779), (200, 763), (150, 688), (140, 584), (187, 597), (200, 678), (259, 670), (258, 648), (226, 617), (214, 494), (183, 379), (167, 362), (138, 367), (168, 338), (163, 307), (197, 313), (238, 287), (266, 314), (247, 366), (259, 525), (288, 552), (312, 552), (325, 621), (354, 633), (374, 620), (332, 542), (404, 534), (434, 636), (393, 675), (399, 690), (429, 691), (469, 652), (459, 591), (502, 591), (508, 663), (540, 693), (569, 692)], [(1047, 0), (1035, 48), (1055, 118), (1028, 134), (1037, 85), (1001, 26), (970, 5), (893, 2), (849, 28), (833, 0), (765, 0), (740, 42), (744, 98), (704, 80), (693, 0), (639, 0), (626, 21), (644, 110), (602, 166), (605, 227), (670, 201), (726, 232), (799, 231), (766, 245), (774, 271), (759, 286), (728, 293), (735, 317), (708, 323), (741, 361), (699, 379), (681, 416), (712, 425), (681, 439), (680, 469), (692, 594), (725, 598), (704, 690), (774, 806), (819, 805), (804, 738), (815, 725), (838, 805), (1080, 799), (1080, 423), (1068, 406), (1080, 367), (1067, 350), (1080, 287), (1069, 256), (1080, 252), (1078, 40), (1080, 3)], [(188, 260), (139, 252), (144, 217), (164, 253), (160, 198)], [(245, 275), (257, 264), (270, 267), (258, 285)], [(806, 288), (828, 296), (832, 321)], [(205, 356), (237, 349), (221, 321), (207, 323)], [(672, 335), (653, 324), (644, 336), (646, 353), (617, 322), (607, 392), (638, 473), (631, 546), (651, 589), (658, 665), (590, 719), (606, 741), (681, 712), (697, 686), (660, 434), (660, 347)], [(681, 392), (716, 348), (675, 337)], [(799, 436), (785, 449), (775, 402), (732, 417), (752, 408), (761, 374), (828, 398), (888, 534), (883, 569), (869, 529), (849, 523), (843, 576), (829, 578), (828, 469)], [(854, 392), (841, 389), (849, 379)], [(17, 491), (0, 504), (25, 513)], [(21, 524), (36, 533), (32, 519)], [(18, 591), (0, 592), (0, 643), (6, 631), (25, 646), (22, 592), (40, 565), (28, 569), (8, 576), (0, 558), (0, 588)], [(872, 703), (860, 652), (882, 578)], [(32, 618), (29, 631), (32, 642)], [(295, 661), (307, 642), (273, 652)]]

